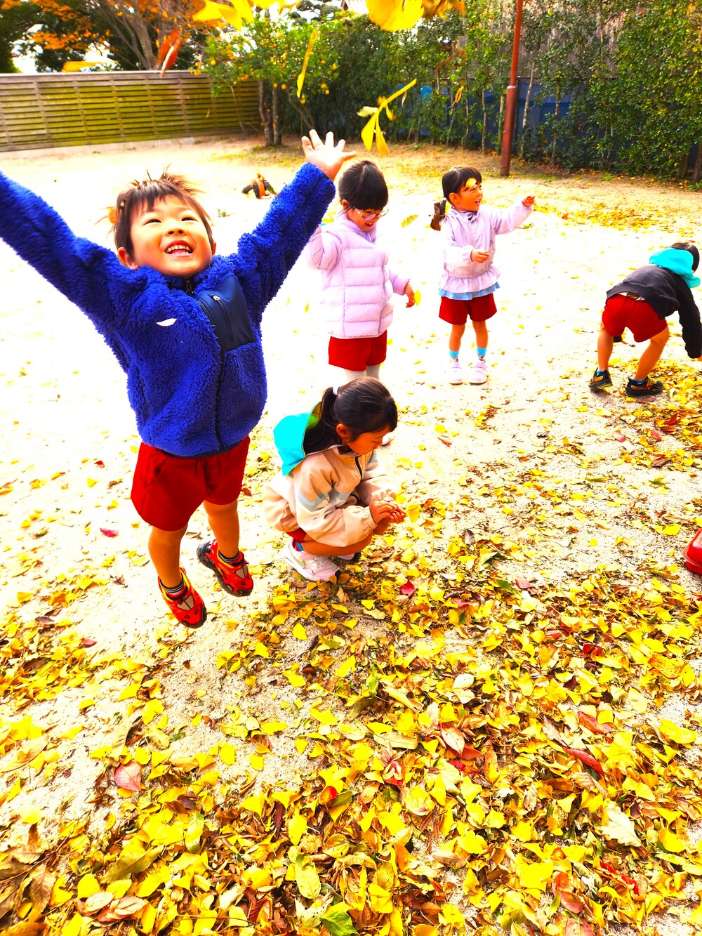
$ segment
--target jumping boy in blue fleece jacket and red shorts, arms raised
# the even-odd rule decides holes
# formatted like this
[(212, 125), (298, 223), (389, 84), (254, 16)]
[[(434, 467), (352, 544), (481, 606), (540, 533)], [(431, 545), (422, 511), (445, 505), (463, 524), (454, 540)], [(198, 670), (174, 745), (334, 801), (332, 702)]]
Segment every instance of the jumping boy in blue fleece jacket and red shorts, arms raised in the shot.
[(344, 140), (302, 138), (307, 164), (237, 253), (214, 254), (195, 189), (164, 173), (117, 199), (117, 256), (77, 238), (34, 193), (0, 173), (0, 237), (91, 319), (127, 375), (142, 444), (132, 486), (151, 524), (149, 553), (178, 621), (205, 605), (180, 565), (188, 520), (203, 505), (214, 539), (197, 557), (230, 594), (254, 583), (239, 548), (237, 500), (266, 402), (261, 317), (319, 225)]

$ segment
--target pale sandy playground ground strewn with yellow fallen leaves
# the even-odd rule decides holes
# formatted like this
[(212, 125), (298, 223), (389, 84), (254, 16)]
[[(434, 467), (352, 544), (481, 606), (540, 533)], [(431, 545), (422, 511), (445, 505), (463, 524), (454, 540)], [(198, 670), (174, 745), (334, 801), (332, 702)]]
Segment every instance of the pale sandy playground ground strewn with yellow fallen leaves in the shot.
[[(702, 526), (702, 383), (676, 322), (663, 397), (624, 400), (632, 345), (611, 394), (587, 387), (608, 285), (692, 236), (699, 196), (503, 180), (470, 154), (491, 202), (533, 191), (539, 210), (498, 241), (489, 383), (449, 387), (425, 226), (461, 158), (384, 161), (391, 256), (422, 293), (383, 373), (408, 521), (334, 584), (280, 562), (260, 504), (271, 429), (330, 382), (300, 264), (265, 318), (270, 405), (241, 504), (256, 591), (234, 600), (196, 565), (198, 513), (194, 634), (165, 613), (128, 500), (124, 379), (2, 248), (4, 932), (702, 932), (702, 588), (681, 562)], [(231, 250), (266, 207), (241, 186), (265, 168), (277, 188), (299, 159), (215, 144), (4, 168), (107, 242), (119, 183), (170, 162)]]

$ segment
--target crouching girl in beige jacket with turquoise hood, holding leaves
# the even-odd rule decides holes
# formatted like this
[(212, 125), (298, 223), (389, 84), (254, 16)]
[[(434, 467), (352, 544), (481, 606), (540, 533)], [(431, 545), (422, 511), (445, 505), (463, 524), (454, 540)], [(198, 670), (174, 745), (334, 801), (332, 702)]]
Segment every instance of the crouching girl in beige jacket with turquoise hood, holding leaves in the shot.
[(325, 390), (312, 413), (288, 416), (273, 430), (283, 468), (266, 489), (271, 526), (290, 536), (283, 558), (310, 581), (327, 581), (373, 536), (404, 519), (375, 456), (397, 426), (397, 407), (372, 377)]

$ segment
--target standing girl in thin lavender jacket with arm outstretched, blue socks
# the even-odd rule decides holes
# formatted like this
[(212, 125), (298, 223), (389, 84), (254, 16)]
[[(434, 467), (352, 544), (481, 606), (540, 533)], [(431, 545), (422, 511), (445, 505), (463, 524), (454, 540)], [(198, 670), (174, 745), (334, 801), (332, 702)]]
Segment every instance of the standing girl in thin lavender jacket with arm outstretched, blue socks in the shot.
[[(437, 202), (431, 227), (444, 236), (444, 271), (439, 283), (439, 318), (450, 323), (448, 338), (448, 383), (462, 384), (459, 351), (465, 324), (470, 316), (475, 330), (477, 360), (468, 375), (471, 384), (488, 379), (488, 326), (496, 312), (493, 293), (499, 288), (500, 271), (492, 263), (495, 235), (508, 234), (519, 227), (533, 211), (534, 196), (516, 202), (507, 211), (480, 208), (483, 200), (482, 176), (476, 168), (464, 166), (444, 173), (443, 202)], [(450, 208), (442, 216), (446, 201)]]

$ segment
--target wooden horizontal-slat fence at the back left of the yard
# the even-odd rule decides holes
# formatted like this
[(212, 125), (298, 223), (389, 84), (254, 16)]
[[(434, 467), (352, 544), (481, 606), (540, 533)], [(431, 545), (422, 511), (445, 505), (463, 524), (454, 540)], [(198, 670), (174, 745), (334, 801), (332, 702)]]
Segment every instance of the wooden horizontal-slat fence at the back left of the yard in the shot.
[(210, 79), (188, 71), (0, 76), (0, 151), (258, 129), (253, 81), (214, 97)]

